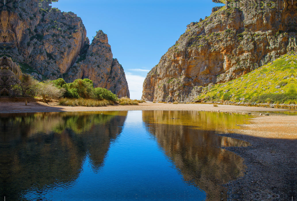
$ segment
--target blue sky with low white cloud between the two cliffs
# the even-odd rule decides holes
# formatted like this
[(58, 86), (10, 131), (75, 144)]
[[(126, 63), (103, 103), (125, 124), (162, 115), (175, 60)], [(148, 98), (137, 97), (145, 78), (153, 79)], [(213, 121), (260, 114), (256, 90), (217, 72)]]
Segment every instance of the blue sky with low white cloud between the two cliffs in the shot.
[(81, 17), (90, 41), (108, 36), (113, 58), (123, 66), (130, 98), (140, 99), (146, 74), (159, 63), (191, 22), (219, 4), (211, 0), (59, 0), (52, 7)]

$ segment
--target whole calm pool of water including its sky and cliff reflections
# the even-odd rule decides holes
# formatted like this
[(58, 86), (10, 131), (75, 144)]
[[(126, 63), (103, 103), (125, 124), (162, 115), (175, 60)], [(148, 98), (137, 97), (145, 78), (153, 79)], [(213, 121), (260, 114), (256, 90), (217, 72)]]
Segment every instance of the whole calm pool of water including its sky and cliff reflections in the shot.
[[(198, 114), (199, 113), (199, 114)], [(243, 160), (215, 134), (248, 116), (197, 111), (0, 114), (6, 200), (221, 200)]]

